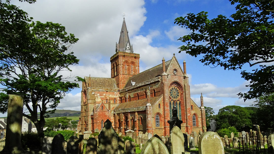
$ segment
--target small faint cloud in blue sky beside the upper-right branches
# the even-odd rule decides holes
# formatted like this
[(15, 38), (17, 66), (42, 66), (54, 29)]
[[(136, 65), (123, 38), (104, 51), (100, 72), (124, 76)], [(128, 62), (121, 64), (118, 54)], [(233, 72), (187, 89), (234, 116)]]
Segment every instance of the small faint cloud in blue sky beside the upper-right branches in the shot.
[(189, 30), (182, 28), (178, 25), (172, 26), (169, 31), (165, 31), (167, 37), (172, 41), (177, 41), (182, 36), (188, 35)]

